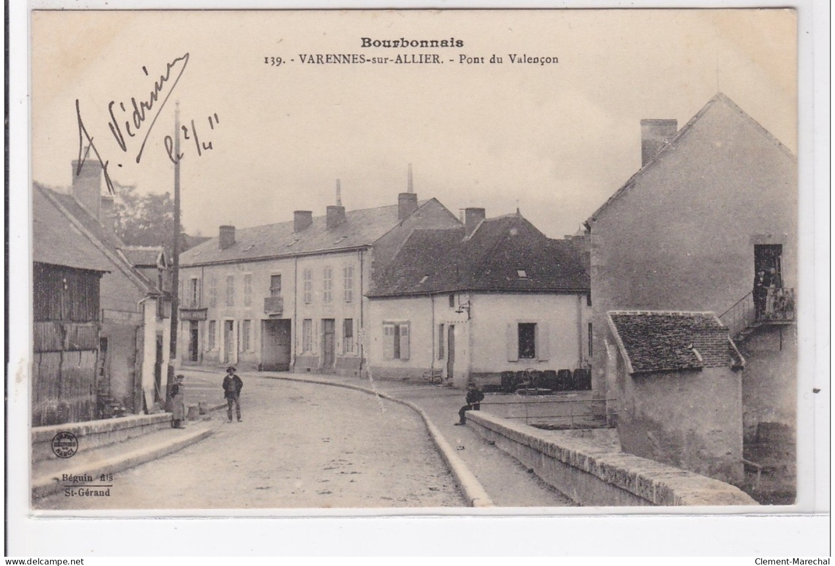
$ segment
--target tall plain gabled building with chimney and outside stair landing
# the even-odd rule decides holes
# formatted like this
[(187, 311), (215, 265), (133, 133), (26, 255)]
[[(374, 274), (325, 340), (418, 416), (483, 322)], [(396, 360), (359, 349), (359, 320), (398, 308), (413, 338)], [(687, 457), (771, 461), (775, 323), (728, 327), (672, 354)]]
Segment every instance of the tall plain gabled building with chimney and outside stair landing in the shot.
[(641, 169), (586, 222), (593, 385), (600, 397), (618, 390), (610, 311), (710, 311), (746, 359), (746, 440), (764, 423), (793, 431), (797, 160), (721, 93), (676, 128), (641, 122)]

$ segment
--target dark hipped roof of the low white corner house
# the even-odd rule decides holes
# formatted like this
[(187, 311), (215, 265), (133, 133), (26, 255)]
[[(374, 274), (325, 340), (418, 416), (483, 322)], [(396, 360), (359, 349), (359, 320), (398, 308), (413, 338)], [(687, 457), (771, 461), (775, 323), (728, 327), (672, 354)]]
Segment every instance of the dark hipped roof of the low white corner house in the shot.
[(522, 215), (483, 220), (471, 237), (465, 234), (463, 227), (415, 230), (394, 260), (375, 270), (368, 296), (589, 289), (580, 246), (548, 238)]

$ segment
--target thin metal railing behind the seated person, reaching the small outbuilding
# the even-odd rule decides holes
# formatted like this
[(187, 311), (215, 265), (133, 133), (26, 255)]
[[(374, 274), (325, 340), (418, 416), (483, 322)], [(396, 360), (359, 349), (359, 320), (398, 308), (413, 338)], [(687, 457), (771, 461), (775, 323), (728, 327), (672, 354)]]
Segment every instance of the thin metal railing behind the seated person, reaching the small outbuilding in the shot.
[(497, 417), (524, 419), (525, 424), (551, 428), (610, 427), (617, 413), (615, 399), (519, 399), (481, 402)]

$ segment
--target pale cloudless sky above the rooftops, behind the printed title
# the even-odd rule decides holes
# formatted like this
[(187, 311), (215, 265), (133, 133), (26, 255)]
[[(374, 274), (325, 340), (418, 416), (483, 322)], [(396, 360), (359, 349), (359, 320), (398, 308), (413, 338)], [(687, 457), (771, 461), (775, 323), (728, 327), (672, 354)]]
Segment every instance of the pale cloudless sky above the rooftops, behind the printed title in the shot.
[[(179, 100), (182, 122), (193, 119), (213, 146), (198, 156), (193, 140), (181, 141), (190, 233), (292, 220), (293, 210), (322, 215), (336, 179), (347, 210), (393, 205), (411, 163), (419, 199), (436, 197), (453, 212), (481, 206), (488, 216), (519, 206), (561, 237), (639, 169), (640, 119), (681, 127), (717, 89), (797, 152), (796, 27), (795, 14), (780, 9), (36, 12), (33, 179), (70, 184), (78, 99), (114, 180), (172, 190), (163, 139)], [(464, 46), (362, 48), (362, 37)], [(125, 136), (124, 153), (108, 104), (120, 116), (119, 102), (130, 109), (131, 97), (147, 100), (166, 63), (185, 53), (135, 164), (151, 120)], [(300, 54), (317, 53), (428, 53), (444, 63), (301, 63)], [(559, 63), (510, 63), (509, 53)], [(461, 54), (504, 63), (459, 64)]]

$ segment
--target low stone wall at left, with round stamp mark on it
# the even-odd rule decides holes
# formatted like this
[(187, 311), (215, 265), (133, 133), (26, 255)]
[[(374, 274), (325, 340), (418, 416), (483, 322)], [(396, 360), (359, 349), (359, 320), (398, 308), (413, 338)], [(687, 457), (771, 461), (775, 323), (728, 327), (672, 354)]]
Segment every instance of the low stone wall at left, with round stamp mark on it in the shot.
[(78, 452), (124, 442), (160, 428), (171, 426), (171, 413), (156, 415), (131, 415), (100, 421), (67, 422), (50, 427), (33, 427), (32, 461), (57, 459), (52, 451), (52, 441), (58, 432), (71, 432), (78, 439)]

